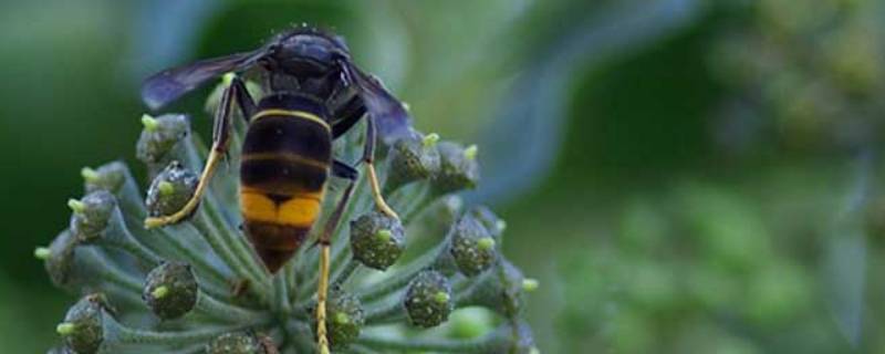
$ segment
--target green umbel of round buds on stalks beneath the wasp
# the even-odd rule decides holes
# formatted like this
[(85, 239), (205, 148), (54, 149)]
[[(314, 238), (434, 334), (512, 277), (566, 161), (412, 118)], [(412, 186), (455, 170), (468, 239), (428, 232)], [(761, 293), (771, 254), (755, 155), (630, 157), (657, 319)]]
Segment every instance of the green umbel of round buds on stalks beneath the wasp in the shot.
[[(145, 218), (179, 210), (198, 185), (207, 149), (189, 121), (142, 118), (135, 155), (147, 167), (146, 191), (121, 162), (81, 171), (84, 196), (69, 201), (67, 228), (34, 250), (55, 285), (86, 294), (59, 323), (61, 345), (51, 352), (316, 351), (320, 248), (305, 242), (269, 274), (240, 228), (236, 168), (220, 168), (181, 222), (145, 228)], [(231, 142), (242, 142), (246, 128), (235, 124)], [(363, 132), (357, 126), (337, 140), (336, 155), (361, 150)], [(438, 140), (415, 133), (379, 146), (383, 196), (399, 219), (378, 212), (367, 181), (357, 180), (332, 232), (325, 322), (334, 353), (537, 352), (521, 320), (529, 288), (499, 252), (503, 221), (485, 207), (462, 211), (457, 197), (479, 181), (477, 149)], [(238, 152), (231, 147), (232, 162)], [(330, 181), (324, 215), (341, 196), (339, 183)], [(450, 323), (465, 306), (487, 309), (486, 320)], [(449, 336), (454, 330), (420, 333), (436, 326), (473, 330), (469, 337)]]

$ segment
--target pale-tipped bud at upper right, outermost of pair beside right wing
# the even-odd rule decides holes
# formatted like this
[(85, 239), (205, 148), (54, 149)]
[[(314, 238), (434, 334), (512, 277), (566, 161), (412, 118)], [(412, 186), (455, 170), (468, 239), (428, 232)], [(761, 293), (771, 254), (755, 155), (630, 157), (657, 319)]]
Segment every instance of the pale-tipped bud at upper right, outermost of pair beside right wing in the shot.
[(437, 194), (449, 194), (462, 189), (473, 189), (479, 183), (479, 164), (476, 146), (464, 148), (461, 145), (444, 142), (438, 145), (439, 171), (433, 176), (434, 189)]

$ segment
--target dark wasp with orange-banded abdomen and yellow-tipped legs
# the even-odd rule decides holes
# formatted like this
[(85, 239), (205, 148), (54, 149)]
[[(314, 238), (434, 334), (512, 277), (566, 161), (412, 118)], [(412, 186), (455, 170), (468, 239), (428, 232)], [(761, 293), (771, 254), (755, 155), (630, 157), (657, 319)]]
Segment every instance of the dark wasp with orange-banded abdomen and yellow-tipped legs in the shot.
[[(239, 73), (260, 69), (268, 94), (256, 102)], [(348, 180), (327, 223), (321, 246), (317, 285), (317, 346), (329, 353), (325, 301), (329, 290), (330, 237), (340, 222), (358, 176), (356, 166), (335, 159), (332, 142), (366, 119), (363, 156), (377, 208), (397, 218), (381, 195), (374, 168), (377, 136), (389, 144), (409, 133), (403, 103), (351, 59), (341, 37), (299, 27), (261, 48), (197, 61), (148, 77), (143, 101), (158, 110), (207, 82), (227, 75), (214, 117), (212, 146), (194, 196), (181, 210), (148, 218), (147, 227), (175, 223), (196, 210), (219, 162), (226, 156), (235, 106), (247, 121), (240, 158), (240, 212), (243, 231), (267, 270), (274, 274), (289, 261), (313, 228), (331, 176)]]

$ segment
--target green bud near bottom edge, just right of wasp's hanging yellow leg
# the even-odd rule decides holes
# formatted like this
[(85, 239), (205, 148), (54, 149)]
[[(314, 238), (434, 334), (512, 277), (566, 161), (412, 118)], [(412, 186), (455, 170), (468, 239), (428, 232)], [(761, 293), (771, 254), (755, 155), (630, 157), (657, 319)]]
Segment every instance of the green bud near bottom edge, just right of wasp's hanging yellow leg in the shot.
[[(363, 304), (356, 296), (336, 291), (330, 293), (326, 303), (326, 329), (329, 344), (332, 348), (346, 348), (360, 337), (365, 324)], [(316, 326), (312, 325), (315, 330)]]

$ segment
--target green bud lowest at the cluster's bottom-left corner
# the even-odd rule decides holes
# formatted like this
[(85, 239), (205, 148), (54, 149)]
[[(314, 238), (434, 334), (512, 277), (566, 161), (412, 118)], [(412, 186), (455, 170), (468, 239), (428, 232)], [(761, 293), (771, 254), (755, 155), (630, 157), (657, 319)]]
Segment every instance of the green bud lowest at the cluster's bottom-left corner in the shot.
[(97, 353), (104, 342), (104, 316), (107, 310), (104, 295), (86, 295), (67, 310), (55, 332), (74, 353)]

